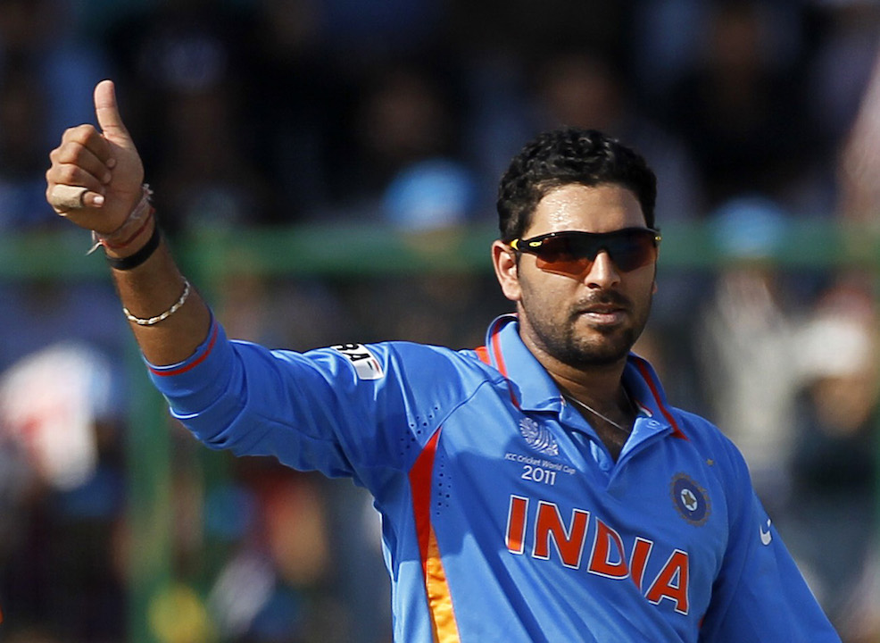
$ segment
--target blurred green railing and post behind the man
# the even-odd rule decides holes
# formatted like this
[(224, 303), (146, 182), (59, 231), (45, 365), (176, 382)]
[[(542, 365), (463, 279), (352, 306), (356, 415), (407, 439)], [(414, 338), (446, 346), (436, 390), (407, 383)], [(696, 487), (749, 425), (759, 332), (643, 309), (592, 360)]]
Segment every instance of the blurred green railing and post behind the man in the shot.
[[(489, 227), (416, 236), (375, 225), (310, 225), (274, 230), (204, 230), (179, 238), (175, 252), (184, 271), (209, 301), (222, 280), (238, 271), (267, 276), (360, 276), (413, 272), (491, 271)], [(663, 271), (711, 271), (726, 261), (712, 230), (668, 225), (660, 252)], [(0, 239), (0, 279), (109, 280), (100, 256), (85, 256), (87, 237), (77, 231), (6, 236)], [(100, 255), (100, 253), (99, 253)], [(781, 266), (835, 271), (880, 271), (880, 230), (829, 221), (793, 224), (770, 261)], [(876, 284), (880, 280), (874, 281)], [(127, 448), (132, 544), (129, 640), (159, 639), (148, 623), (149, 605), (170, 587), (170, 438), (167, 412), (149, 385), (131, 342), (128, 355), (137, 382), (130, 401)], [(205, 457), (212, 457), (206, 455)], [(880, 451), (877, 453), (880, 462)], [(878, 494), (880, 495), (880, 494)], [(876, 515), (880, 517), (880, 506)]]

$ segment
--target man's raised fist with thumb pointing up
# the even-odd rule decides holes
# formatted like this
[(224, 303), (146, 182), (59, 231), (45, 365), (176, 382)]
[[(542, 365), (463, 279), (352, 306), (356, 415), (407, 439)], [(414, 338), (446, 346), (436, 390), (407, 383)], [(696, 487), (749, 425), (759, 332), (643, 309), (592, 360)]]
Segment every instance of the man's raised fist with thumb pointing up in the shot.
[(46, 200), (56, 213), (87, 230), (117, 230), (143, 195), (144, 166), (125, 128), (111, 80), (95, 87), (98, 131), (67, 129), (50, 154)]

